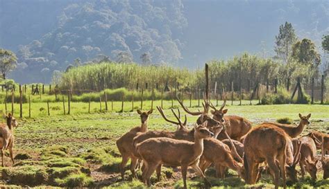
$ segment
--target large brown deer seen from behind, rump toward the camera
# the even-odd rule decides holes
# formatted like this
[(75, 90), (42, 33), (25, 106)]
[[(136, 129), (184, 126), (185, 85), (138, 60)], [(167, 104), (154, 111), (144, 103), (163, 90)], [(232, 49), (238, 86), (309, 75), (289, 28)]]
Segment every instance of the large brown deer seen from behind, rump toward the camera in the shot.
[[(298, 150), (297, 150), (298, 151)], [(244, 179), (254, 184), (260, 177), (260, 163), (267, 162), (273, 173), (275, 188), (279, 186), (280, 172), (286, 188), (286, 165), (291, 166), (299, 153), (294, 154), (291, 138), (283, 129), (273, 125), (253, 127), (244, 139)]]

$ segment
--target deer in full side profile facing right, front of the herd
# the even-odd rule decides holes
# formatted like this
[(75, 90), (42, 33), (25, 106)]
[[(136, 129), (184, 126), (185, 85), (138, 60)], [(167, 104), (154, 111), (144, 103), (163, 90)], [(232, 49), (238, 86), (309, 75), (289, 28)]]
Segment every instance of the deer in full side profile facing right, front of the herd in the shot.
[[(206, 127), (207, 121), (203, 125), (194, 126), (194, 143), (173, 138), (149, 138), (137, 144), (137, 153), (142, 157), (145, 168), (143, 170), (143, 181), (151, 186), (151, 174), (159, 165), (165, 163), (171, 166), (180, 166), (184, 188), (186, 185), (187, 167), (191, 166), (203, 179), (205, 175), (199, 168), (199, 159), (203, 153), (203, 139), (214, 136)], [(206, 183), (209, 181), (205, 179)]]

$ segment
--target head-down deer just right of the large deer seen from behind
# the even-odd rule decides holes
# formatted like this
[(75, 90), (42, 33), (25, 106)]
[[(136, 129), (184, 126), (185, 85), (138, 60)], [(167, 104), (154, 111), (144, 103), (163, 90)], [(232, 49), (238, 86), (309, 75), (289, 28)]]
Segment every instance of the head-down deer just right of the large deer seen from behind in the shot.
[[(299, 165), (301, 166), (302, 177), (304, 178), (306, 170), (315, 181), (317, 180), (317, 163), (319, 161), (315, 158), (317, 147), (313, 139), (309, 136), (298, 138), (298, 141), (301, 141), (301, 160), (299, 161)], [(295, 148), (296, 142), (293, 144)]]

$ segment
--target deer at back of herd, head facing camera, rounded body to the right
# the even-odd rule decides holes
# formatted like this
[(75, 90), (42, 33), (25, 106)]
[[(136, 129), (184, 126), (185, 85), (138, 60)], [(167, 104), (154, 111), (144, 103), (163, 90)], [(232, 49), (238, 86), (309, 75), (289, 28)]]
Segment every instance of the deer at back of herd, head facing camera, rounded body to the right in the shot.
[(224, 123), (225, 130), (219, 134), (218, 139), (223, 140), (227, 138), (224, 131), (235, 141), (240, 141), (240, 138), (248, 133), (251, 129), (251, 122), (246, 120), (246, 118), (242, 118), (239, 116), (225, 116), (228, 112), (228, 109), (223, 109), (226, 105), (226, 98), (224, 98), (224, 102), (221, 105), (220, 109), (216, 109), (212, 103), (210, 103), (212, 118), (215, 120), (221, 121)]

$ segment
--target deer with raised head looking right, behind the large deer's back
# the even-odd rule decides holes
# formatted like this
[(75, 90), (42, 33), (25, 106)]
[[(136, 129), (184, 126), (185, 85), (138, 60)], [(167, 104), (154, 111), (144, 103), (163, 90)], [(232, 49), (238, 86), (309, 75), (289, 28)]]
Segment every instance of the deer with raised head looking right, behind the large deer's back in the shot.
[(308, 114), (307, 116), (302, 116), (301, 114), (298, 114), (299, 118), (301, 118), (301, 122), (299, 122), (299, 125), (296, 127), (292, 127), (291, 125), (288, 124), (280, 124), (280, 123), (263, 123), (265, 125), (271, 124), (276, 127), (280, 127), (283, 129), (290, 137), (296, 138), (299, 136), (306, 125), (310, 124), (310, 121), (308, 120), (311, 117), (311, 114)]

